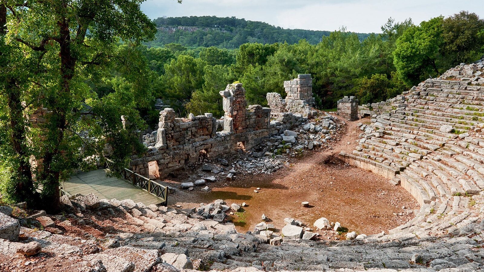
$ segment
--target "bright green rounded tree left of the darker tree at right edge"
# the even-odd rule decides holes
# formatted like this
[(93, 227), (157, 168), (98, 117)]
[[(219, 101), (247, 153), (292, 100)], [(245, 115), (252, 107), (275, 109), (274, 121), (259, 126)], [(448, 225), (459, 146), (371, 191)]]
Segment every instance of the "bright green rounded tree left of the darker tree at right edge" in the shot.
[(440, 74), (439, 60), (443, 17), (423, 21), (419, 26), (409, 27), (396, 42), (393, 52), (398, 73), (409, 84), (417, 84), (423, 78)]

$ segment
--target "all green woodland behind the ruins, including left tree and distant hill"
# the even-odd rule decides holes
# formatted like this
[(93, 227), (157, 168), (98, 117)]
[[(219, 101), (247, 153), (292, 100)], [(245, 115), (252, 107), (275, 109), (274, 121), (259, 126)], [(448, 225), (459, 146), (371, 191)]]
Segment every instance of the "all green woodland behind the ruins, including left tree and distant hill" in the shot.
[[(146, 151), (134, 132), (157, 123), (156, 98), (180, 116), (221, 116), (219, 91), (228, 83), (243, 83), (249, 104), (266, 105), (267, 92), (284, 96), (284, 80), (309, 73), (319, 108), (350, 94), (378, 102), (484, 52), (484, 20), (468, 12), (418, 25), (389, 19), (381, 34), (362, 38), (235, 18), (153, 22), (141, 2), (0, 2), (0, 201), (58, 211), (59, 184), (73, 169), (91, 169), (106, 155), (126, 166), (133, 152)], [(160, 40), (164, 24), (230, 36), (213, 44), (206, 33), (197, 42)]]

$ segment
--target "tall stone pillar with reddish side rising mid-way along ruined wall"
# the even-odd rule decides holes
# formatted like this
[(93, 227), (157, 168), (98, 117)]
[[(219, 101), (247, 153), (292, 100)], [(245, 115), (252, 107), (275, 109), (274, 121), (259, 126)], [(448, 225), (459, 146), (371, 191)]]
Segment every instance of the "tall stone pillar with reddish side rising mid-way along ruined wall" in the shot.
[(247, 128), (247, 101), (242, 83), (228, 84), (225, 91), (220, 91), (224, 98), (224, 130), (241, 133)]

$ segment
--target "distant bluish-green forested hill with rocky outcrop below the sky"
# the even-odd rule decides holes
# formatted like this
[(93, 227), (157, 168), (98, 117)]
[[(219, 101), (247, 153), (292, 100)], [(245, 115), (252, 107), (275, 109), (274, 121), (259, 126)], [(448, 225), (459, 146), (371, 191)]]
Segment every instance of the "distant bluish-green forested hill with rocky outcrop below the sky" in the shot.
[[(154, 20), (158, 28), (156, 38), (148, 46), (162, 46), (178, 43), (184, 46), (217, 46), (220, 48), (238, 48), (245, 43), (284, 43), (296, 44), (301, 39), (315, 45), (322, 36), (330, 31), (291, 30), (274, 27), (267, 23), (246, 21), (235, 17), (184, 16), (160, 17)], [(360, 40), (369, 36), (356, 33)]]

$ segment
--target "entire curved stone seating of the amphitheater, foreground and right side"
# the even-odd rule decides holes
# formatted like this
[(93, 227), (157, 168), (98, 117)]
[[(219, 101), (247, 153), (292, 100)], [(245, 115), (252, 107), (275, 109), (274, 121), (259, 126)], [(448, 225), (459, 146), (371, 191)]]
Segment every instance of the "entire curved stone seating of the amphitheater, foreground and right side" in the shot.
[[(388, 186), (402, 186), (420, 204), (412, 220), (388, 233), (346, 241), (290, 239), (266, 230), (238, 233), (232, 224), (174, 208), (63, 196), (67, 212), (37, 217), (47, 221), (45, 229), (21, 227), (20, 242), (0, 239), (0, 270), (484, 272), (482, 61), (459, 65), (388, 101), (339, 103), (348, 119), (371, 116), (371, 123), (359, 124), (354, 151), (339, 157), (388, 179)], [(0, 219), (16, 220), (3, 213)]]

